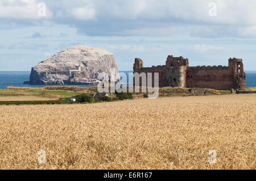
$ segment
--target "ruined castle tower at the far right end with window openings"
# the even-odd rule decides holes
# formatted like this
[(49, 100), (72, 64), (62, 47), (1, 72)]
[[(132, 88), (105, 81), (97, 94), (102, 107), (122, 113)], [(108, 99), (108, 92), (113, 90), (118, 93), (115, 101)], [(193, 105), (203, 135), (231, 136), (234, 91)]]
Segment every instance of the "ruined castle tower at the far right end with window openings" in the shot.
[(238, 58), (229, 58), (229, 71), (233, 75), (233, 87), (236, 90), (246, 89), (246, 74), (243, 71), (243, 60)]

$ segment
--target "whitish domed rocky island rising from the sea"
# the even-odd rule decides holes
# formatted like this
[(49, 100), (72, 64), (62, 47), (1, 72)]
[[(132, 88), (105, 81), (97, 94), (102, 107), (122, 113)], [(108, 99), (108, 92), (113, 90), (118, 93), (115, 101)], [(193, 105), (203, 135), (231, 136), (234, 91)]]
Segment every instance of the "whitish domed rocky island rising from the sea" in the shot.
[(119, 81), (114, 54), (100, 48), (76, 46), (56, 53), (35, 65), (30, 74), (30, 85), (96, 85), (98, 74), (114, 69)]

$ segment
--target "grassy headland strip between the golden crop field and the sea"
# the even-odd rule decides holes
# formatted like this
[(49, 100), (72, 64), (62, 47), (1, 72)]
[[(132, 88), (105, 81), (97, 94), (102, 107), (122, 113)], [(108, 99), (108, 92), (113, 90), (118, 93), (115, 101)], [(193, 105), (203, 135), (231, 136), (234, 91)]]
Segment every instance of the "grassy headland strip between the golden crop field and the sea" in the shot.
[[(133, 87), (134, 89), (134, 87)], [(135, 90), (135, 89), (134, 89)], [(189, 88), (159, 88), (159, 97), (166, 96), (195, 96), (197, 94)], [(193, 89), (200, 90), (200, 89)], [(205, 95), (228, 95), (232, 94), (230, 90), (214, 90), (204, 89)], [(246, 91), (256, 91), (256, 88), (248, 88)], [(1, 104), (73, 104), (66, 102), (66, 99), (71, 96), (81, 94), (95, 94), (97, 87), (77, 87), (77, 86), (49, 86), (49, 87), (7, 87), (5, 90), (0, 90), (0, 105)], [(133, 98), (147, 98), (148, 92), (142, 92), (140, 87), (139, 93), (133, 93)], [(113, 94), (115, 96), (115, 94)], [(200, 94), (201, 95), (201, 94)], [(104, 101), (105, 99), (102, 99)], [(117, 99), (113, 99), (117, 100)], [(122, 100), (122, 99), (121, 99)], [(111, 101), (108, 99), (108, 101)]]

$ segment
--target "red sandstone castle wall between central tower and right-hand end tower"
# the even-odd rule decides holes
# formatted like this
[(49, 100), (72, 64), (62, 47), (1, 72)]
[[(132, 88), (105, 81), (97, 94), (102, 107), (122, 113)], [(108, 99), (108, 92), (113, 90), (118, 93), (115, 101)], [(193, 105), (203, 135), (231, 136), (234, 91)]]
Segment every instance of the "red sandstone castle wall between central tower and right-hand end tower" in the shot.
[(188, 67), (186, 87), (232, 89), (234, 87), (232, 71), (228, 67)]

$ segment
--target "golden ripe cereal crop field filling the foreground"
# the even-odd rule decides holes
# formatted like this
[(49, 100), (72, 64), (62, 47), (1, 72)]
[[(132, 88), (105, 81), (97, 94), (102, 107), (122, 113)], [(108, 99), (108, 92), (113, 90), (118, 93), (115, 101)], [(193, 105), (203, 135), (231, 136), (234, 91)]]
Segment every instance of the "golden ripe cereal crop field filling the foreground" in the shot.
[(0, 106), (0, 169), (256, 169), (255, 110), (256, 94)]

